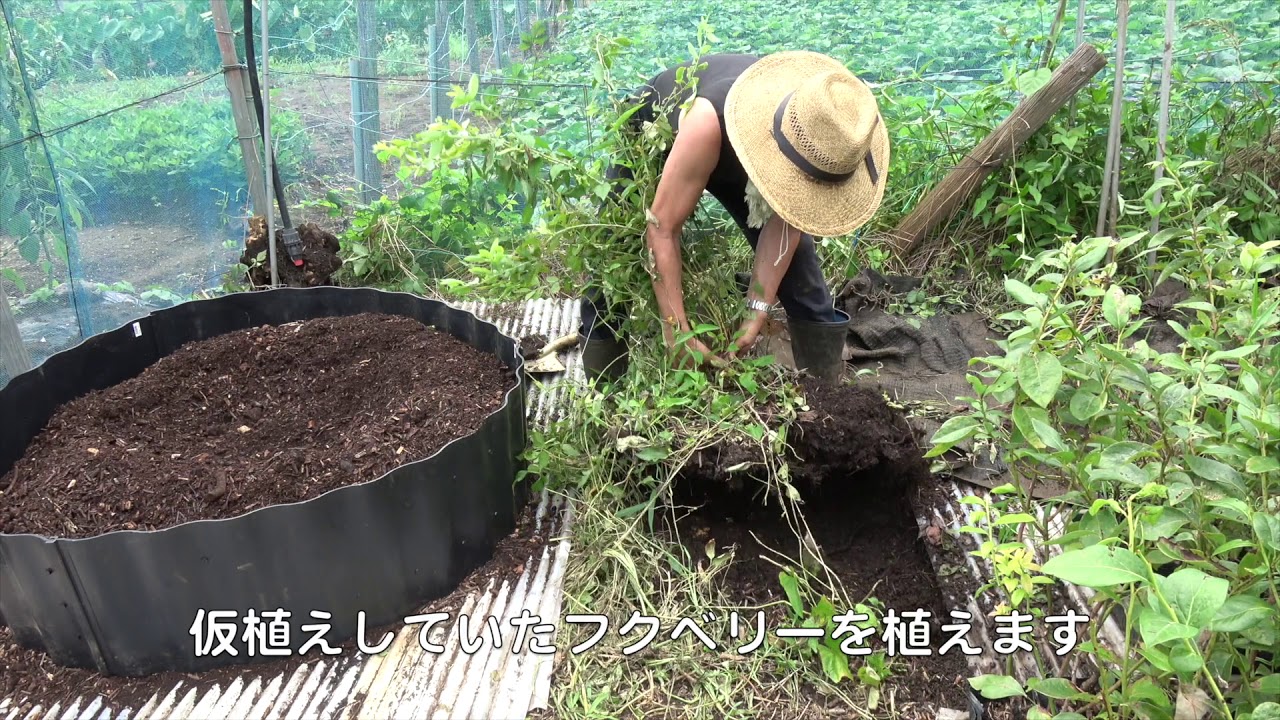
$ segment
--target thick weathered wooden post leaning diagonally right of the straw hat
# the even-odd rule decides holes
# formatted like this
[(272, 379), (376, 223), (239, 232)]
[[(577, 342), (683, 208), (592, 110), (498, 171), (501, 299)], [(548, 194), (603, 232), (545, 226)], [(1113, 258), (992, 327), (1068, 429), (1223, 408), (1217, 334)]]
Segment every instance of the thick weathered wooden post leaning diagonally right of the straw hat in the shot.
[(1080, 45), (1053, 70), (1044, 87), (1023, 99), (1000, 127), (974, 147), (968, 156), (925, 195), (915, 209), (890, 233), (890, 242), (905, 258), (924, 236), (955, 213), (993, 169), (1009, 159), (1052, 115), (1059, 111), (1093, 76), (1106, 67), (1106, 58), (1092, 45)]

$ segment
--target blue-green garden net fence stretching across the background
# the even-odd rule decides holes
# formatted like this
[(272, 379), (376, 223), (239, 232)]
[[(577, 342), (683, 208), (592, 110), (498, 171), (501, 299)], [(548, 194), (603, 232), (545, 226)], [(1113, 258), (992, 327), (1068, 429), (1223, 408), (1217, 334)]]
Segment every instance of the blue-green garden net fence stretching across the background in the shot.
[[(151, 309), (232, 287), (247, 218), (264, 209), (250, 190), (228, 90), (241, 76), (224, 72), (219, 5), (239, 67), (242, 0), (3, 0), (0, 322), (22, 352), (9, 341), (0, 382)], [(1102, 0), (269, 0), (264, 53), (260, 10), (255, 0), (257, 70), (293, 223), (340, 233), (385, 196), (415, 208), (424, 236), (453, 256), (520, 214), (460, 205), (448, 177), (407, 193), (371, 149), (456, 117), (448, 91), (471, 76), (481, 97), (585, 149), (603, 129), (585, 111), (600, 100), (595, 38), (630, 42), (612, 73), (639, 83), (685, 59), (705, 18), (714, 51), (817, 50), (882, 88), (900, 119), (895, 141), (934, 160), (916, 163), (913, 179), (927, 186), (964, 149), (913, 128), (938, 117), (964, 124), (964, 99), (984, 86), (1043, 82), (1028, 68), (1064, 58), (1076, 32), (1108, 54), (1116, 37), (1115, 3)], [(1165, 3), (1132, 6), (1135, 97), (1160, 82), (1164, 13)], [(1181, 0), (1178, 28), (1174, 82), (1202, 88), (1203, 106), (1275, 87), (1274, 0)], [(1096, 78), (1100, 92), (1111, 72)], [(244, 127), (257, 137), (243, 86)], [(1196, 108), (1179, 110), (1204, 122)]]

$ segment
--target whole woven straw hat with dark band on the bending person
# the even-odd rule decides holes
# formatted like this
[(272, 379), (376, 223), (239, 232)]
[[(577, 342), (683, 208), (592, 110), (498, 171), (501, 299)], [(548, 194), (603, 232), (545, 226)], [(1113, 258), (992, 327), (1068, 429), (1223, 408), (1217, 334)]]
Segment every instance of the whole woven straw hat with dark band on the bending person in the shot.
[(762, 58), (730, 90), (724, 124), (769, 208), (801, 232), (852, 232), (884, 197), (888, 131), (870, 88), (838, 60)]

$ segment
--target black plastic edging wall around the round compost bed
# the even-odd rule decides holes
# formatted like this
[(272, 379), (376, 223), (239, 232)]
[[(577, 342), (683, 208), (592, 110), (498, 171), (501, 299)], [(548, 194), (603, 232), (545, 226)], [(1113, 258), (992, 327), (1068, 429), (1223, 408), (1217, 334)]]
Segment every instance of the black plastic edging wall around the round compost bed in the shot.
[[(526, 445), (524, 359), (513, 338), (471, 313), (369, 288), (282, 288), (151, 313), (49, 357), (0, 388), (0, 474), (63, 404), (140, 374), (179, 346), (264, 324), (380, 313), (417, 319), (495, 355), (515, 372), (479, 430), (381, 478), (305, 502), (219, 520), (90, 538), (0, 534), (0, 624), (60, 665), (114, 675), (204, 671), (248, 656), (248, 610), (289, 612), (289, 653), (329, 624), (337, 647), (398, 624), (452, 592), (515, 529), (529, 501), (516, 480)], [(200, 611), (230, 611), (232, 646), (197, 656)], [(312, 611), (330, 618), (316, 620)], [(207, 635), (209, 621), (202, 624)], [(376, 643), (379, 637), (369, 637)], [(207, 641), (206, 641), (207, 642)], [(219, 643), (214, 643), (216, 647)], [(319, 650), (307, 656), (319, 657)]]

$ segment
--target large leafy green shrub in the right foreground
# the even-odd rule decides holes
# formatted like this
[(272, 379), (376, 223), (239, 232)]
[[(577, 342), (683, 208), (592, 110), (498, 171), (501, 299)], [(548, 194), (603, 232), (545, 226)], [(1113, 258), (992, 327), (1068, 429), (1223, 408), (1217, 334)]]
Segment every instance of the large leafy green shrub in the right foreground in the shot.
[[(1102, 662), (1101, 689), (1073, 692), (1059, 717), (1172, 719), (1188, 702), (1215, 717), (1280, 711), (1280, 288), (1265, 284), (1280, 241), (1235, 236), (1204, 169), (1166, 168), (1167, 229), (1066, 243), (1006, 281), (1019, 309), (1004, 315), (1016, 327), (1005, 355), (982, 359), (973, 413), (929, 451), (1004, 448), (1015, 487), (1070, 488), (1061, 536), (1030, 516), (1004, 528), (1061, 547), (1039, 570), (1094, 588), (1092, 618), (1123, 612), (1124, 647), (1080, 646)], [(1117, 272), (1148, 251), (1156, 281), (1190, 293), (1169, 320), (1178, 350), (1144, 340), (1144, 288)]]

